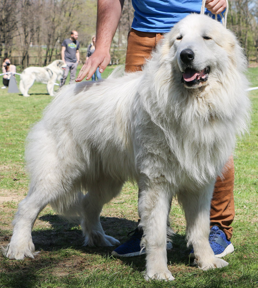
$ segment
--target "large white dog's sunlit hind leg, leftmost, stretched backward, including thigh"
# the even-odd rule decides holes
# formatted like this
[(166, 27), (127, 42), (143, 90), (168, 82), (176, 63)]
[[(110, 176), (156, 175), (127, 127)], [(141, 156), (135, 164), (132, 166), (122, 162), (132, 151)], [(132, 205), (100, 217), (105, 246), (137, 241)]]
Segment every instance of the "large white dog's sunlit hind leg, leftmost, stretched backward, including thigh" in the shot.
[[(42, 130), (38, 134), (43, 135)], [(10, 244), (3, 248), (4, 256), (10, 259), (33, 258), (36, 255), (31, 231), (38, 214), (48, 203), (61, 199), (66, 207), (69, 200), (76, 200), (73, 197), (74, 183), (80, 173), (72, 165), (63, 167), (53, 147), (49, 149), (48, 137), (43, 139), (45, 142), (37, 143), (38, 147), (33, 142), (32, 148), (27, 151), (31, 183), (27, 197), (18, 205)]]

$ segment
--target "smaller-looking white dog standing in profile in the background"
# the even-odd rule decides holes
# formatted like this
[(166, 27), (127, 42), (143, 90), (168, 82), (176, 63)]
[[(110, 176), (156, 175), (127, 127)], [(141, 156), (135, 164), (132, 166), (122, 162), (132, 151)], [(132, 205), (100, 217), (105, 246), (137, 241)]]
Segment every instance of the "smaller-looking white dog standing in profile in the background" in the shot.
[(66, 64), (62, 60), (55, 60), (45, 67), (28, 67), (22, 71), (20, 76), (20, 92), (28, 97), (29, 88), (34, 81), (47, 84), (47, 91), (50, 96), (54, 96), (55, 82), (60, 81), (63, 76)]

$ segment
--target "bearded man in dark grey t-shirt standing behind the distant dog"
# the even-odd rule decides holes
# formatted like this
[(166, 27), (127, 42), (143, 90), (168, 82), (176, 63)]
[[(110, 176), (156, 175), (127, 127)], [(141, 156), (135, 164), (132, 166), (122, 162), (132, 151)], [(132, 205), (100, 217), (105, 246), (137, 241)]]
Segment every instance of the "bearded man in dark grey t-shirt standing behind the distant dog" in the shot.
[(80, 43), (79, 41), (77, 41), (77, 39), (78, 39), (78, 32), (71, 31), (71, 37), (65, 39), (62, 43), (61, 58), (65, 62), (67, 67), (65, 68), (63, 78), (60, 81), (60, 87), (65, 85), (65, 81), (69, 71), (70, 71), (69, 83), (71, 83), (75, 79), (77, 65), (80, 62), (80, 52), (79, 52)]

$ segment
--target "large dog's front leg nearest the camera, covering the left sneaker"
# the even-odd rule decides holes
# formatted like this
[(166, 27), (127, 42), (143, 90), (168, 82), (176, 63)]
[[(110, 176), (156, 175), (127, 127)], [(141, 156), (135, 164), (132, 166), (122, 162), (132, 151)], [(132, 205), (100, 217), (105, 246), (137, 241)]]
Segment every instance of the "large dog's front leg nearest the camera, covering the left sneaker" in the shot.
[(170, 211), (171, 194), (162, 179), (142, 179), (139, 184), (140, 226), (143, 228), (142, 246), (146, 249), (144, 278), (174, 280), (167, 268), (167, 217)]

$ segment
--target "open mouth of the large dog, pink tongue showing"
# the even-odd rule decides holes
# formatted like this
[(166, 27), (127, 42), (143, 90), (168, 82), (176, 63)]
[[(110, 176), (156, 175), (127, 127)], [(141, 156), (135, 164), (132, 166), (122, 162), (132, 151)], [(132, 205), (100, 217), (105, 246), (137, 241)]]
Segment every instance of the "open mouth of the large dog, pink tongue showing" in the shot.
[(191, 87), (200, 82), (205, 82), (208, 80), (210, 72), (210, 67), (206, 67), (201, 71), (196, 71), (190, 68), (187, 68), (182, 75), (181, 82), (185, 85)]

